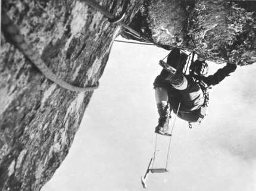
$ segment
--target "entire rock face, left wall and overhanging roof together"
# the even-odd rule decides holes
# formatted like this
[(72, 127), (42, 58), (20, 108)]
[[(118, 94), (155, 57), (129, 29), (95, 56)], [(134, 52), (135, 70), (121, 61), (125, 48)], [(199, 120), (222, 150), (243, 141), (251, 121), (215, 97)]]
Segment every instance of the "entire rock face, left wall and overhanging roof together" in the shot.
[[(2, 1), (2, 9), (51, 71), (80, 87), (98, 82), (122, 32), (86, 1)], [(96, 1), (114, 15), (124, 2)], [(133, 29), (158, 45), (195, 50), (217, 63), (248, 65), (256, 62), (255, 4), (132, 0), (123, 21), (132, 21)], [(123, 36), (143, 41), (127, 32)], [(51, 179), (68, 154), (92, 93), (71, 92), (46, 79), (1, 32), (1, 190), (40, 190)]]

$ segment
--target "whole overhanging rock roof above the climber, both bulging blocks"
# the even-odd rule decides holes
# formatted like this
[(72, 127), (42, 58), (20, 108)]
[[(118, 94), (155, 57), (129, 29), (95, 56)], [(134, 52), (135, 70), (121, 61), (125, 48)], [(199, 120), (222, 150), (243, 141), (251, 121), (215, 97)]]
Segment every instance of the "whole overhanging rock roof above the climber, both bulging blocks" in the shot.
[(255, 10), (255, 1), (145, 0), (130, 26), (158, 45), (196, 51), (216, 63), (248, 65), (256, 62)]

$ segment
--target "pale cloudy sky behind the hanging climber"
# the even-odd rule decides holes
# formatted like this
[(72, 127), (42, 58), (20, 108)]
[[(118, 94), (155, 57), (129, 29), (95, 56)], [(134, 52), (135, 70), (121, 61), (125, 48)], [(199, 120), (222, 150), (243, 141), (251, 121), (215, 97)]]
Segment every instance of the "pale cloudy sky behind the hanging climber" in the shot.
[[(154, 152), (158, 121), (152, 83), (167, 54), (156, 46), (114, 43), (70, 152), (42, 191), (145, 190), (141, 176)], [(170, 173), (150, 173), (147, 190), (256, 190), (255, 73), (256, 64), (238, 67), (218, 84), (201, 126), (189, 129), (177, 118)], [(158, 140), (155, 167), (164, 168), (169, 139)]]

